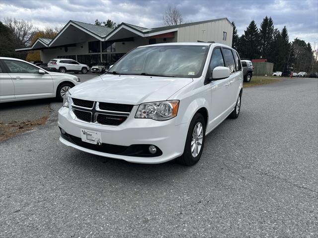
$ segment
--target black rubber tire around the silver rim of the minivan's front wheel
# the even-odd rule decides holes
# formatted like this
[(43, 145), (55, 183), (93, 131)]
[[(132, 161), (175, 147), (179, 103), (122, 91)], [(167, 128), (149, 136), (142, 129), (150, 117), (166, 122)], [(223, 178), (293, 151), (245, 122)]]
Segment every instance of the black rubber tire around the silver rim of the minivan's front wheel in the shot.
[[(194, 128), (197, 125), (197, 123), (201, 123), (201, 125), (203, 127), (202, 128), (203, 134), (202, 134), (202, 143), (201, 143), (201, 147), (200, 147), (199, 153), (194, 157), (192, 155), (192, 151), (191, 151), (191, 146), (192, 146), (191, 145), (191, 141), (192, 141), (192, 135), (194, 133)], [(201, 157), (201, 154), (202, 154), (202, 151), (203, 151), (203, 148), (204, 148), (205, 129), (206, 129), (206, 124), (205, 124), (205, 120), (204, 120), (203, 116), (200, 113), (195, 114), (194, 117), (192, 118), (191, 122), (190, 122), (190, 125), (189, 125), (187, 138), (186, 138), (185, 145), (184, 145), (183, 154), (179, 158), (176, 159), (176, 161), (179, 164), (186, 165), (186, 166), (191, 166), (191, 165), (196, 164), (200, 160), (200, 157)], [(195, 143), (197, 143), (197, 141)]]

